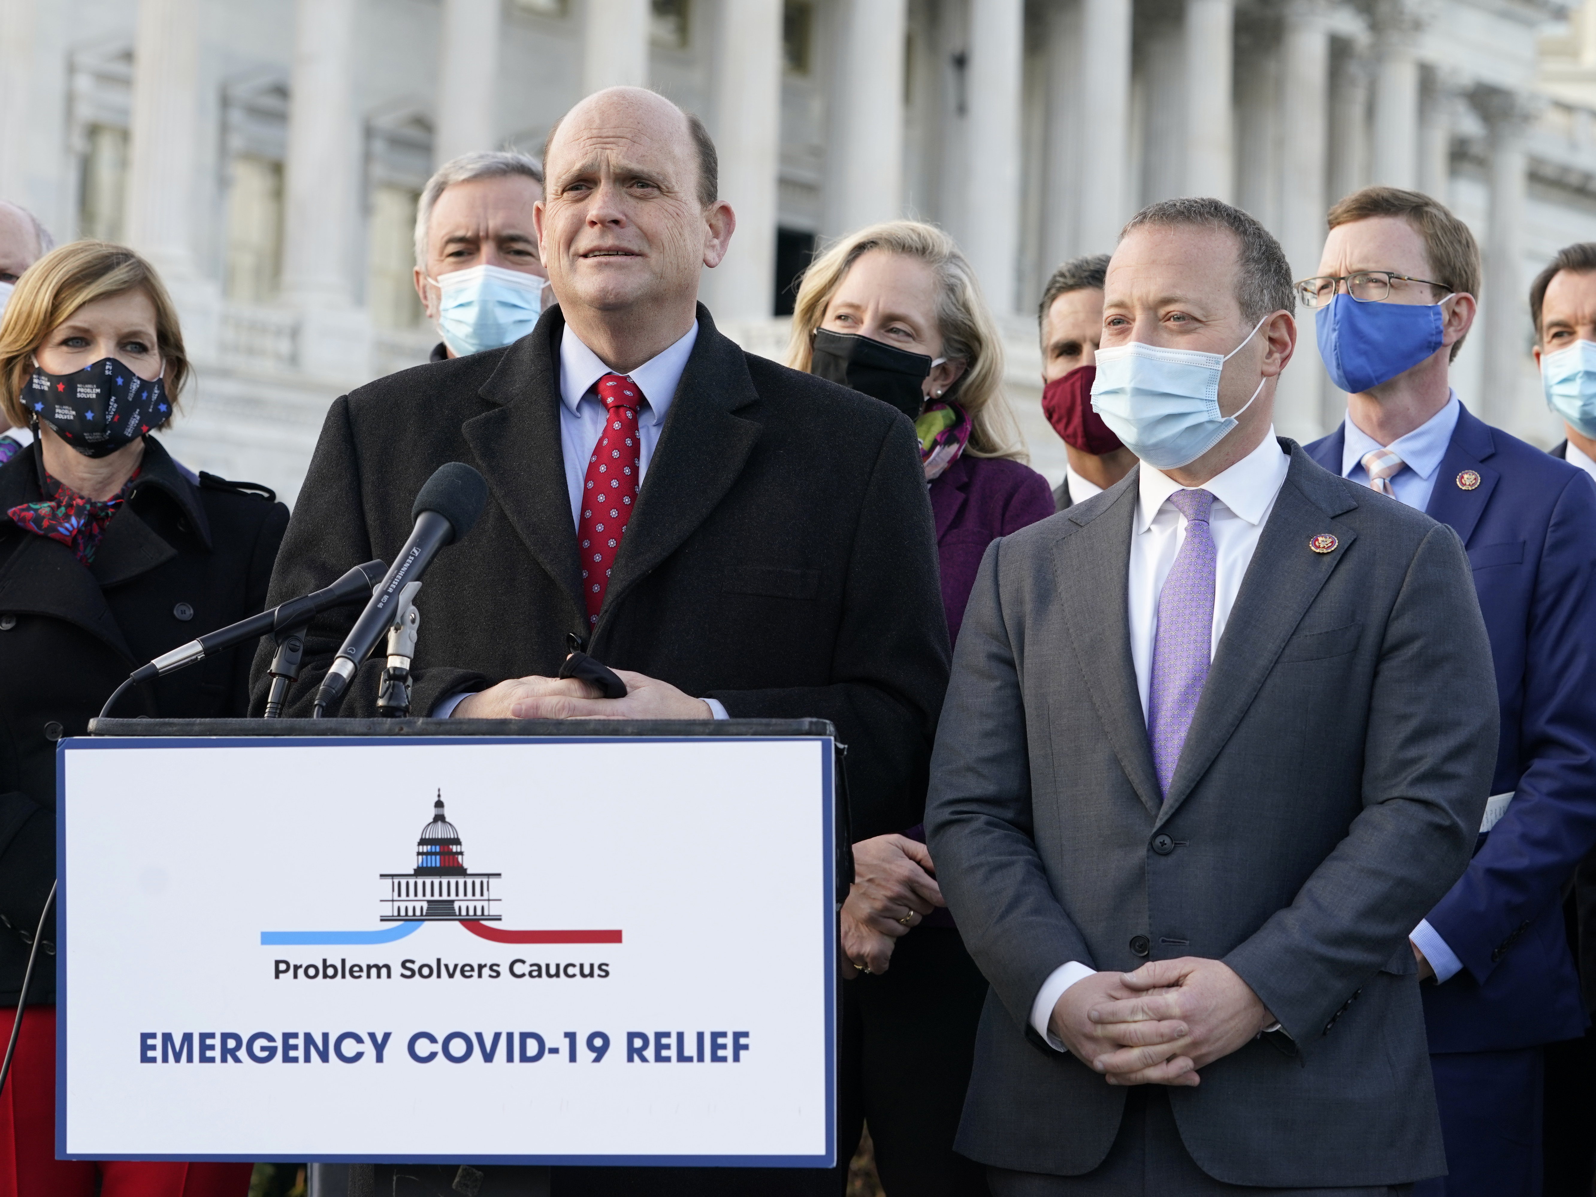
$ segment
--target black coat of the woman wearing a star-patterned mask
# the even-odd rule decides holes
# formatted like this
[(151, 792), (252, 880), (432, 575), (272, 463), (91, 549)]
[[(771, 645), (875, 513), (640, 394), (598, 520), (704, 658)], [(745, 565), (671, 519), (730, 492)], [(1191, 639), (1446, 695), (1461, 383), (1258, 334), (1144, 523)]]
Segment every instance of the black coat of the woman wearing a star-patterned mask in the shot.
[[(86, 734), (145, 661), (262, 610), (289, 519), (249, 484), (201, 474), (193, 485), (150, 437), (85, 567), (61, 541), (5, 519), (41, 498), (38, 472), (34, 450), (0, 468), (0, 916), (10, 924), (0, 926), (0, 1005), (16, 1004), (21, 932), (32, 937), (56, 876), (56, 741)], [(134, 688), (113, 713), (243, 715), (247, 670), (249, 650), (219, 653)], [(40, 956), (29, 1004), (54, 993), (54, 961)]]

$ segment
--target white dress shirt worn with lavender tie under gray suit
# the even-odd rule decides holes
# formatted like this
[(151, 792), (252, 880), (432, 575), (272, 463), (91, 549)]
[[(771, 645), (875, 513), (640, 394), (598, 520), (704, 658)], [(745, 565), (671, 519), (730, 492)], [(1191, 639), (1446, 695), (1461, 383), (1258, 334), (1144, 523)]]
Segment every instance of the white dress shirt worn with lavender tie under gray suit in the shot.
[[(1291, 458), (1280, 452), (1275, 429), (1270, 428), (1258, 448), (1202, 485), (1202, 490), (1213, 495), (1208, 530), (1213, 535), (1216, 555), (1211, 642), (1215, 651), (1219, 646), (1219, 637), (1224, 635), (1235, 595), (1242, 589), (1246, 567), (1253, 562), (1258, 538), (1264, 531), (1269, 512), (1275, 508), (1280, 487), (1285, 485), (1290, 464)], [(1159, 630), (1159, 592), (1163, 589), (1165, 578), (1170, 576), (1170, 567), (1175, 565), (1175, 554), (1186, 541), (1186, 517), (1168, 501), (1176, 490), (1181, 490), (1179, 482), (1146, 461), (1141, 463), (1141, 474), (1136, 479), (1136, 517), (1130, 528), (1130, 610), (1127, 614), (1130, 618), (1130, 661), (1136, 670), (1136, 693), (1141, 696), (1143, 718), (1148, 717), (1152, 645)], [(1092, 974), (1093, 969), (1079, 961), (1061, 964), (1042, 982), (1042, 988), (1036, 991), (1036, 999), (1031, 1002), (1031, 1026), (1060, 1052), (1065, 1050), (1065, 1044), (1049, 1033), (1047, 1020), (1065, 990)]]

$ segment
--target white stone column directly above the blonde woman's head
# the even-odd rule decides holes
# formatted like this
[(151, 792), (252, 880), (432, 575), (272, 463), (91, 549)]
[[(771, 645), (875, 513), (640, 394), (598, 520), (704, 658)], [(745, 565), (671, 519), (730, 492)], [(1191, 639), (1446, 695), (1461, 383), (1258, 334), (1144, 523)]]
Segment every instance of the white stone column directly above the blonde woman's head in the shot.
[[(838, 5), (836, 73), (828, 96), (828, 236), (895, 220), (903, 212), (907, 21), (908, 0)], [(863, 113), (868, 118), (862, 120)]]

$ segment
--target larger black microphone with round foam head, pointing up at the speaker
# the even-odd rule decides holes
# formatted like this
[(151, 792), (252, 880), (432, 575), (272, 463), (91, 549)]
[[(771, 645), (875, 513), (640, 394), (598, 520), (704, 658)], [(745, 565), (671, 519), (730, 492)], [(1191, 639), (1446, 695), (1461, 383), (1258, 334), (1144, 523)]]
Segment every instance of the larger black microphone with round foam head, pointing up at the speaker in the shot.
[(420, 581), (439, 549), (471, 531), (487, 500), (488, 484), (464, 461), (448, 461), (426, 480), (410, 509), (410, 517), (415, 520), (410, 539), (399, 551), (399, 559), (388, 570), (381, 586), (372, 591), (372, 600), (350, 629), (327, 677), (321, 680), (321, 689), (316, 691), (316, 715), (342, 697), (354, 670), (370, 654), (378, 637), (388, 632), (405, 583)]

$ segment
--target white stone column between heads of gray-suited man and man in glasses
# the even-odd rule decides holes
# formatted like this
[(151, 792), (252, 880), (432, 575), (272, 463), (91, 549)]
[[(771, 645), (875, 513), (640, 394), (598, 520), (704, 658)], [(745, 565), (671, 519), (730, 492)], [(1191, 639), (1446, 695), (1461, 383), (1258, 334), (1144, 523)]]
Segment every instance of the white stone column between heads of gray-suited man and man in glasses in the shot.
[[(1285, 6), (1280, 41), (1282, 188), (1280, 244), (1293, 278), (1318, 271), (1328, 209), (1325, 171), (1329, 160), (1329, 29), (1321, 0)], [(1325, 431), (1325, 369), (1314, 335), (1314, 313), (1298, 311), (1298, 350), (1275, 391), (1275, 426), (1309, 440)]]

